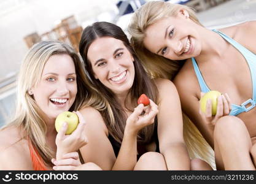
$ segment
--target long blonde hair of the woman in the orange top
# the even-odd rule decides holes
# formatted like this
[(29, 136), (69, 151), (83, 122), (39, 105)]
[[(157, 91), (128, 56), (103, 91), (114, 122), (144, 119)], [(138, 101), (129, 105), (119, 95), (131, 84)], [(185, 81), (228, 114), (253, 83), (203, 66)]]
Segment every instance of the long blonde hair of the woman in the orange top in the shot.
[(15, 126), (25, 132), (21, 139), (29, 139), (33, 147), (39, 152), (44, 163), (52, 166), (51, 158), (55, 158), (55, 153), (46, 143), (47, 125), (45, 123), (44, 112), (36, 104), (33, 95), (28, 94), (28, 90), (39, 83), (45, 63), (52, 55), (66, 54), (74, 61), (77, 74), (77, 95), (70, 110), (76, 110), (85, 104), (85, 99), (89, 98), (87, 93), (90, 88), (87, 85), (84, 66), (79, 55), (67, 44), (56, 41), (42, 41), (34, 45), (26, 54), (21, 63), (17, 80), (17, 106), (15, 117), (3, 128)]

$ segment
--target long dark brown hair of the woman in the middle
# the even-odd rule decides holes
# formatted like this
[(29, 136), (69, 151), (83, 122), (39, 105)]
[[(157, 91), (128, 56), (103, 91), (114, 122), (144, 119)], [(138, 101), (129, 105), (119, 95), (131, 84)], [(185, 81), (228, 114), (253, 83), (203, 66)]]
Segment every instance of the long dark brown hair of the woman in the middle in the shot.
[[(125, 47), (129, 50), (131, 55), (133, 55), (135, 76), (133, 85), (125, 99), (125, 107), (128, 101), (131, 102), (133, 108), (136, 107), (137, 99), (142, 93), (146, 94), (150, 99), (152, 99), (152, 101), (157, 102), (158, 90), (155, 83), (149, 78), (147, 72), (145, 72), (145, 69), (138, 57), (134, 54), (133, 48), (130, 46), (126, 34), (120, 27), (103, 21), (93, 23), (93, 25), (87, 26), (87, 28), (83, 30), (79, 45), (79, 52), (85, 62), (85, 70), (88, 72), (91, 85), (98, 93), (97, 96), (94, 96), (94, 99), (90, 100), (91, 104), (87, 105), (99, 110), (106, 123), (109, 134), (111, 134), (117, 142), (121, 143), (123, 140), (123, 132), (125, 130), (127, 115), (123, 107), (115, 98), (114, 93), (104, 86), (99, 80), (95, 79), (91, 63), (87, 57), (88, 48), (91, 43), (99, 37), (113, 37), (115, 39), (122, 40)], [(128, 96), (130, 97), (129, 99)], [(128, 110), (132, 112), (131, 109)], [(152, 135), (156, 123), (157, 118), (155, 118), (155, 123), (153, 125), (146, 126), (139, 131), (138, 142), (147, 143), (152, 141)]]

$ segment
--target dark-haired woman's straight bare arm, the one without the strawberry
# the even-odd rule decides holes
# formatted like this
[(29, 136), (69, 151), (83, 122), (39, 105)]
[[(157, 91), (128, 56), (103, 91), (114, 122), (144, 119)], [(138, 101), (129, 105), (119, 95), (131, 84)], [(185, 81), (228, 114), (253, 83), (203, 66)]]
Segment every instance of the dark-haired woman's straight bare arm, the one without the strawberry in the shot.
[(190, 158), (183, 138), (182, 112), (176, 87), (158, 79), (158, 140), (168, 170), (190, 170)]

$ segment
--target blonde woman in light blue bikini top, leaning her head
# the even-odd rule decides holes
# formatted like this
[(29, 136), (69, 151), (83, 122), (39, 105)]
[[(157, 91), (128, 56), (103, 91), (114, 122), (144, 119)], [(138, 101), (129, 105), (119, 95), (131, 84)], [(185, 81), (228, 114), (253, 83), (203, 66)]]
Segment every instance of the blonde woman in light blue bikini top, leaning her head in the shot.
[[(255, 170), (256, 21), (209, 30), (188, 7), (152, 1), (134, 13), (129, 33), (147, 70), (173, 79), (182, 110), (214, 149), (217, 169)], [(215, 116), (211, 102), (200, 111), (210, 90), (222, 93)]]

